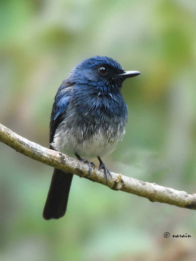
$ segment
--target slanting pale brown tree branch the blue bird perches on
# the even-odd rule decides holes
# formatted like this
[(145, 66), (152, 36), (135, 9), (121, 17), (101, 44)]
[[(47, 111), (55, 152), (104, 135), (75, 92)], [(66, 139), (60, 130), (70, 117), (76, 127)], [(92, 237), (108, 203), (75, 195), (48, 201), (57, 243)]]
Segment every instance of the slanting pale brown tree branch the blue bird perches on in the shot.
[[(92, 170), (90, 176), (87, 176), (89, 170), (87, 164), (29, 141), (2, 124), (0, 124), (0, 141), (14, 150), (51, 167), (106, 185), (103, 170), (99, 171), (95, 168)], [(157, 201), (187, 209), (196, 209), (196, 194), (187, 194), (185, 191), (177, 191), (173, 188), (166, 188), (155, 183), (132, 179), (121, 174), (111, 174), (112, 179), (109, 178), (107, 184), (111, 189), (135, 194), (147, 198), (151, 202)]]

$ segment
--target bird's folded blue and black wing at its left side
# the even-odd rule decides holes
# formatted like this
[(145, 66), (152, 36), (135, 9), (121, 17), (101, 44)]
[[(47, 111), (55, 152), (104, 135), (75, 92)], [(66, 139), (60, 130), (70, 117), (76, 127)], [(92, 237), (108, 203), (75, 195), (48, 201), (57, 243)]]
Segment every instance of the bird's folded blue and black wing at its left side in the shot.
[(59, 126), (66, 115), (66, 110), (71, 96), (71, 90), (72, 85), (65, 80), (56, 93), (50, 118), (50, 149), (54, 149), (51, 143), (53, 143), (56, 128)]

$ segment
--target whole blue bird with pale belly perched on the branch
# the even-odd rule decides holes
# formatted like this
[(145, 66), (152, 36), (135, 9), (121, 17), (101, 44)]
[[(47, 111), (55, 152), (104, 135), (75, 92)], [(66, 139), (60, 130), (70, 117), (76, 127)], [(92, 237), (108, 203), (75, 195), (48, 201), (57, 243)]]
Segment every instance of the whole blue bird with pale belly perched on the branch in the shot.
[[(139, 75), (125, 71), (107, 56), (80, 62), (62, 81), (50, 118), (50, 149), (59, 151), (95, 168), (88, 158), (97, 157), (99, 170), (111, 173), (101, 157), (111, 153), (125, 134), (128, 108), (121, 94), (125, 79)], [(45, 220), (65, 215), (73, 174), (54, 169), (43, 210)]]

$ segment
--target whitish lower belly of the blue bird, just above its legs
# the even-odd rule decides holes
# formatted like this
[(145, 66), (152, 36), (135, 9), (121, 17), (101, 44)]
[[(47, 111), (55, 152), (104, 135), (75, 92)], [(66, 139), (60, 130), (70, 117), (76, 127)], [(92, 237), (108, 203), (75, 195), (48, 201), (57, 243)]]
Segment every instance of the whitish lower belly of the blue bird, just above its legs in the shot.
[(82, 158), (95, 158), (111, 153), (125, 134), (125, 128), (117, 124), (107, 131), (99, 129), (89, 138), (83, 139), (81, 128), (67, 129), (61, 126), (54, 135), (56, 150), (73, 157), (75, 153)]

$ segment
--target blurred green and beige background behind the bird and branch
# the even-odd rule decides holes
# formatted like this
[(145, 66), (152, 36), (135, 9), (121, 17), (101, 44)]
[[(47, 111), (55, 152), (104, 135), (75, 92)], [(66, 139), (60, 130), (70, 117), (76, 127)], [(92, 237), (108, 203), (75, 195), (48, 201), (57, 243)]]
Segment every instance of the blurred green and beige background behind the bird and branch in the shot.
[[(194, 0), (2, 0), (1, 123), (49, 147), (62, 80), (81, 60), (112, 57), (141, 75), (123, 84), (126, 134), (103, 161), (194, 193), (194, 50)], [(194, 260), (194, 211), (77, 176), (66, 215), (43, 220), (52, 173), (1, 144), (1, 260)]]

